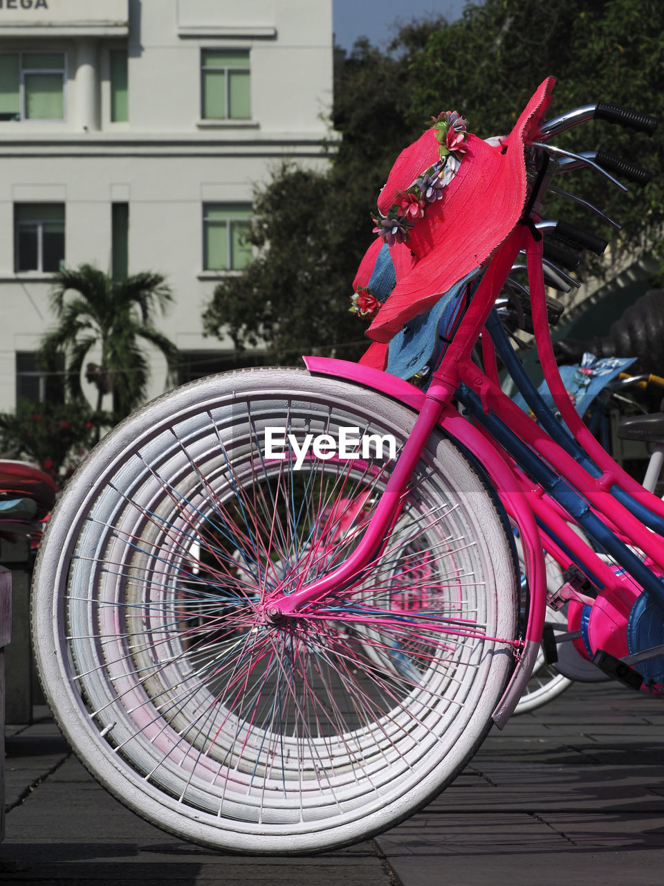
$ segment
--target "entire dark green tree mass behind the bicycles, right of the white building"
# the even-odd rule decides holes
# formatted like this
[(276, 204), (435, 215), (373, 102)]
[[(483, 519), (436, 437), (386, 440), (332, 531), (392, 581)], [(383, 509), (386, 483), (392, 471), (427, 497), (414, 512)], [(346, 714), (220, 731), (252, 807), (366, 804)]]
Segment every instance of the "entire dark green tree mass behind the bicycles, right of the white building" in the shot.
[[(336, 72), (330, 122), (341, 141), (330, 141), (328, 171), (286, 165), (259, 190), (251, 235), (259, 257), (216, 287), (205, 331), (229, 329), (237, 347), (263, 340), (281, 361), (313, 348), (353, 358), (366, 339), (363, 323), (347, 313), (348, 294), (374, 236), (375, 199), (398, 152), (429, 117), (456, 109), (478, 136), (507, 133), (549, 74), (558, 81), (552, 113), (605, 100), (663, 117), (662, 33), (660, 0), (485, 0), (467, 4), (449, 25), (436, 19), (403, 27), (387, 52), (360, 41)], [(648, 139), (591, 123), (556, 144), (601, 147), (655, 174), (664, 167), (659, 134)], [(567, 190), (582, 191), (622, 223), (621, 248), (635, 249), (664, 221), (664, 183), (656, 175), (645, 193), (635, 186), (626, 197), (591, 173), (565, 179)], [(612, 236), (567, 201), (547, 205), (559, 208), (568, 221)]]

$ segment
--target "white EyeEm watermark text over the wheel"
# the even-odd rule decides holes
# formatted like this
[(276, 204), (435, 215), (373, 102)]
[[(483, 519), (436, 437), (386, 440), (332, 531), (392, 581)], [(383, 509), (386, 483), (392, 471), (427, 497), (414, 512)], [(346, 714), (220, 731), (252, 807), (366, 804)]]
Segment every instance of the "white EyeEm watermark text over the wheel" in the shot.
[(266, 428), (265, 457), (283, 461), (287, 457), (287, 442), (295, 455), (295, 470), (300, 470), (311, 456), (324, 462), (336, 457), (342, 460), (397, 457), (397, 439), (392, 434), (363, 434), (360, 437), (359, 428), (343, 427), (339, 428), (336, 437), (332, 434), (305, 434), (302, 443), (286, 428)]

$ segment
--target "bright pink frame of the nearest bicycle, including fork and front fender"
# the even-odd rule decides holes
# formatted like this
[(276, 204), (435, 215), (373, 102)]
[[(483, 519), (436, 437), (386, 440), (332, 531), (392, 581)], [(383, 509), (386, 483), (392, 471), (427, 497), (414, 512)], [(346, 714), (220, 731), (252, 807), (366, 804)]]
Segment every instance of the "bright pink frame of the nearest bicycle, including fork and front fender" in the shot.
[[(567, 420), (568, 427), (576, 439), (587, 448), (600, 470), (603, 471), (599, 478), (593, 477), (587, 470), (584, 470), (571, 455), (568, 455), (533, 419), (515, 406), (500, 390), (495, 362), (492, 360), (490, 345), (485, 338), (483, 338), (483, 354), (485, 361), (487, 361), (489, 375), (485, 374), (471, 359), (473, 347), (483, 332), (490, 310), (502, 290), (514, 260), (521, 252), (526, 253), (528, 260), (536, 341), (540, 354), (542, 354), (545, 377), (560, 413)], [(609, 489), (614, 483), (620, 482), (637, 501), (647, 503), (661, 516), (664, 516), (664, 503), (652, 494), (645, 492), (634, 480), (628, 478), (597, 441), (591, 437), (590, 431), (587, 431), (579, 416), (576, 415), (562, 387), (560, 374), (553, 360), (546, 316), (542, 245), (533, 236), (529, 226), (525, 224), (517, 226), (490, 260), (483, 274), (482, 282), (475, 291), (452, 342), (447, 346), (440, 365), (433, 372), (432, 381), (426, 392), (420, 392), (413, 385), (391, 377), (387, 373), (367, 369), (367, 367), (355, 363), (313, 357), (305, 358), (305, 363), (310, 371), (346, 378), (401, 400), (408, 407), (414, 408), (418, 412), (418, 416), (413, 431), (407, 439), (382, 493), (381, 501), (363, 532), (357, 548), (344, 563), (322, 578), (308, 584), (303, 582), (300, 587), (288, 595), (283, 595), (281, 592), (272, 595), (266, 601), (266, 610), (271, 616), (293, 615), (298, 611), (305, 610), (308, 604), (320, 602), (326, 595), (340, 587), (348, 587), (359, 573), (367, 568), (376, 552), (381, 549), (383, 540), (398, 518), (401, 502), (413, 476), (415, 466), (431, 432), (436, 427), (442, 428), (452, 439), (456, 439), (462, 447), (466, 447), (483, 464), (507, 514), (519, 529), (523, 546), (524, 564), (530, 589), (529, 612), (518, 666), (505, 696), (494, 711), (493, 717), (498, 725), (506, 722), (525, 688), (537, 659), (544, 626), (546, 577), (542, 538), (537, 529), (535, 514), (544, 525), (555, 527), (557, 537), (566, 540), (568, 549), (591, 574), (598, 576), (603, 587), (609, 591), (619, 589), (621, 581), (616, 577), (616, 573), (607, 567), (592, 548), (580, 540), (569, 528), (568, 523), (571, 521), (571, 517), (563, 509), (560, 509), (555, 501), (543, 494), (541, 488), (537, 489), (537, 484), (529, 481), (511, 457), (503, 452), (486, 432), (459, 416), (458, 411), (452, 405), (452, 400), (460, 384), (466, 385), (469, 390), (479, 396), (484, 412), (493, 412), (500, 416), (518, 437), (541, 455), (544, 462), (548, 462), (561, 478), (565, 478), (565, 482), (568, 481), (571, 486), (582, 490), (589, 507), (595, 513), (605, 517), (606, 522), (613, 526), (616, 534), (627, 538), (631, 544), (636, 545), (646, 556), (649, 556), (654, 563), (660, 567), (664, 566), (664, 540), (647, 530), (637, 517), (634, 517), (628, 509), (614, 499)], [(563, 568), (569, 565), (569, 557), (564, 555), (550, 539), (547, 540), (547, 548), (550, 553), (557, 556), (559, 561), (562, 560)], [(506, 640), (505, 642), (511, 643), (513, 641)]]

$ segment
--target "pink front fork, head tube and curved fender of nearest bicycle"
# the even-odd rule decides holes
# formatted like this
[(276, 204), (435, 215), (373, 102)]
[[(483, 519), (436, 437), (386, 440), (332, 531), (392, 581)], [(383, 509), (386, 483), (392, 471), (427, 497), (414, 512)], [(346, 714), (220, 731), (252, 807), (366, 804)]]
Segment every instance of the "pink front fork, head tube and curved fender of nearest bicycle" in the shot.
[[(493, 719), (498, 726), (503, 726), (509, 719), (537, 660), (546, 605), (544, 555), (537, 524), (519, 479), (514, 475), (498, 447), (487, 439), (482, 431), (459, 416), (457, 409), (452, 406), (452, 398), (462, 380), (461, 369), (467, 365), (474, 365), (470, 361), (470, 353), (475, 341), (483, 330), (483, 325), (513, 261), (524, 248), (529, 236), (528, 228), (520, 226), (515, 229), (490, 261), (483, 281), (459, 325), (454, 341), (444, 355), (441, 366), (436, 369), (434, 379), (426, 393), (401, 379), (356, 363), (316, 357), (305, 358), (305, 364), (310, 371), (358, 382), (360, 385), (401, 400), (409, 408), (414, 408), (419, 415), (398, 458), (395, 470), (390, 475), (374, 516), (351, 556), (322, 579), (303, 585), (289, 595), (275, 595), (266, 601), (266, 608), (273, 616), (277, 613), (294, 614), (308, 603), (320, 601), (328, 593), (349, 584), (362, 569), (367, 567), (397, 520), (403, 494), (413, 476), (413, 470), (421, 457), (423, 447), (426, 446), (434, 428), (441, 427), (485, 466), (490, 482), (496, 488), (507, 514), (519, 528), (523, 546), (530, 589), (528, 620), (517, 667), (493, 713)], [(474, 372), (475, 376), (481, 375), (476, 367)]]

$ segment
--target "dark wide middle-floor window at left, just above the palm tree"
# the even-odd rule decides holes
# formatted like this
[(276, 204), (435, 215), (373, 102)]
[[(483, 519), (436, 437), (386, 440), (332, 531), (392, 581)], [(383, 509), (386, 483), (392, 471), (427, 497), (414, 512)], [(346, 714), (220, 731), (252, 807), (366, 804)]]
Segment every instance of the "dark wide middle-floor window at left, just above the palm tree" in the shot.
[(58, 271), (65, 261), (65, 204), (14, 204), (15, 270)]

